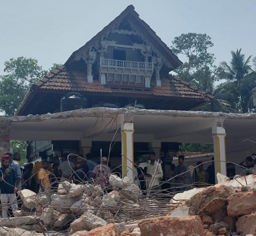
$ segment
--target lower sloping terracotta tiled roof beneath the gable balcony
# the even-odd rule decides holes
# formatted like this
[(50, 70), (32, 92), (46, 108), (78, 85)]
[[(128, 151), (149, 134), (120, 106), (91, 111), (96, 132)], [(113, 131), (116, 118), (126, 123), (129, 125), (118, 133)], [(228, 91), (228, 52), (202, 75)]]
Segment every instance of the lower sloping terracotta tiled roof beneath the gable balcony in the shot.
[[(43, 79), (36, 83), (36, 86), (41, 90), (62, 90), (62, 91), (78, 91), (78, 92), (100, 92), (111, 93), (116, 91), (124, 91), (126, 88), (134, 87), (133, 93), (147, 92), (149, 95), (173, 97), (173, 98), (187, 98), (187, 99), (202, 99), (208, 101), (212, 96), (206, 92), (198, 90), (190, 83), (180, 80), (175, 76), (161, 78), (162, 86), (153, 86), (152, 89), (140, 91), (136, 89), (136, 85), (125, 84), (107, 84), (102, 85), (99, 81), (94, 80), (92, 84), (87, 83), (85, 72), (68, 71), (65, 66), (61, 66), (50, 72)], [(141, 87), (141, 86), (139, 86)], [(118, 90), (117, 88), (122, 88)], [(131, 90), (130, 90), (131, 91)]]

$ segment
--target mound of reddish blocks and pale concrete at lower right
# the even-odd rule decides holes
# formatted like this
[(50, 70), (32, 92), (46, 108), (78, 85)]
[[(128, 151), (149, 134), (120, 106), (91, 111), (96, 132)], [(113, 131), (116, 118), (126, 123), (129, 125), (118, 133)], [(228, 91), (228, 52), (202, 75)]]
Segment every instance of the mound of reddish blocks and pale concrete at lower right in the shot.
[[(204, 233), (194, 232), (198, 235), (255, 236), (256, 176), (227, 180), (218, 174), (217, 179), (215, 186), (176, 194), (170, 201), (176, 207), (169, 215), (200, 217)], [(182, 199), (182, 196), (186, 197)]]

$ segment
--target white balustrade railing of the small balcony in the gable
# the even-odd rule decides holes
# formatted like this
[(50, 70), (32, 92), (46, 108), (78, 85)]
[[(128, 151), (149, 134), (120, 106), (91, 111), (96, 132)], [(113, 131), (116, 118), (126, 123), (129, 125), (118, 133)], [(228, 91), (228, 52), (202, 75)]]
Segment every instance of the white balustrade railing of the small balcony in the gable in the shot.
[(151, 62), (122, 61), (122, 60), (103, 59), (103, 58), (101, 58), (101, 66), (153, 70), (153, 63)]

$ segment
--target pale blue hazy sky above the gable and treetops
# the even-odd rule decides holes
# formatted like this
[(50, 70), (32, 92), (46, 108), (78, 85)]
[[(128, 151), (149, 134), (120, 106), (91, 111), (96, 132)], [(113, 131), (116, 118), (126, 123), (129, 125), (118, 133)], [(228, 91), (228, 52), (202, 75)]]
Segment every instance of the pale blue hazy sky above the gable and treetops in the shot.
[(0, 74), (12, 57), (36, 58), (44, 69), (64, 63), (130, 4), (168, 46), (181, 33), (206, 33), (216, 64), (237, 48), (256, 56), (256, 0), (3, 0)]

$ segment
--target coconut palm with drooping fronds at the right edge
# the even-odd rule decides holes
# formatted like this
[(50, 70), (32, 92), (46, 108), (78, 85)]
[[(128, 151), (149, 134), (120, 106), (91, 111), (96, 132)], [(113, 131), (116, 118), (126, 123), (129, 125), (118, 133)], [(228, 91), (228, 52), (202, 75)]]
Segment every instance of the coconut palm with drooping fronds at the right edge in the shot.
[[(241, 53), (241, 50), (242, 49), (240, 48), (239, 50), (237, 49), (236, 52), (231, 52), (232, 60), (230, 65), (225, 61), (221, 62), (221, 66), (224, 69), (225, 79), (227, 80), (227, 84), (225, 85), (227, 85), (229, 89), (227, 90), (226, 88), (224, 92), (220, 91), (218, 93), (218, 98), (226, 99), (228, 93), (232, 93), (236, 100), (232, 101), (236, 103), (236, 109), (246, 113), (249, 111), (248, 102), (251, 97), (251, 86), (254, 83), (248, 83), (245, 77), (253, 72), (253, 70), (249, 65), (251, 56), (245, 59), (245, 55)], [(228, 82), (232, 83), (232, 86), (230, 86)]]

